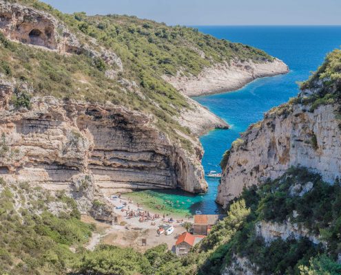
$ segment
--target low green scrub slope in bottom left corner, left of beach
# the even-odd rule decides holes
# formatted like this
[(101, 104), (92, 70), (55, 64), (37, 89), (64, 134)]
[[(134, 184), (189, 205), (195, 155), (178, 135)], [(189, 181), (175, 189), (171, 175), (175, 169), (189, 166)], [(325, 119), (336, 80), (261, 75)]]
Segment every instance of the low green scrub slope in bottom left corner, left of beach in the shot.
[(76, 263), (70, 246), (81, 248), (94, 229), (80, 217), (63, 193), (0, 178), (0, 274), (65, 274)]

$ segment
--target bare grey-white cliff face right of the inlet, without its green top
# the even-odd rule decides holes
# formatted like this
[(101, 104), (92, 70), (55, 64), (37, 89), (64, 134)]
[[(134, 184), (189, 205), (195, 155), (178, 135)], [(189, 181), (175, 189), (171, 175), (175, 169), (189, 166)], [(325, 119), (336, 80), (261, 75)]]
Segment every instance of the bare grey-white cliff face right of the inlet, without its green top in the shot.
[(290, 166), (304, 166), (333, 181), (341, 171), (340, 120), (331, 104), (314, 111), (285, 104), (265, 114), (232, 144), (225, 159), (217, 201), (226, 205), (243, 186), (280, 177)]

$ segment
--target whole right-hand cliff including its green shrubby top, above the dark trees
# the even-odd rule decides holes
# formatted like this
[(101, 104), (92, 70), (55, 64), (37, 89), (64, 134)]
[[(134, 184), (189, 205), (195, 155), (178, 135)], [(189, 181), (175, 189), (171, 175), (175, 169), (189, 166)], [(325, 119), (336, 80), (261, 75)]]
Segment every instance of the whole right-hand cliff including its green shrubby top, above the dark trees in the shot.
[(226, 206), (243, 187), (276, 179), (291, 166), (331, 183), (340, 177), (340, 62), (341, 51), (334, 50), (296, 98), (271, 109), (232, 143), (221, 162), (219, 203)]

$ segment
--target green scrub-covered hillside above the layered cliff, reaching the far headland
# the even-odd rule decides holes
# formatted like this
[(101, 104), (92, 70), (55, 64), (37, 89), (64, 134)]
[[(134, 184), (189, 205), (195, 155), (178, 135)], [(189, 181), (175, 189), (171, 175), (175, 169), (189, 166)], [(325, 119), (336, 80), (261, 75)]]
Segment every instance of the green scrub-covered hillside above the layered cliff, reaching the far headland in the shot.
[[(161, 78), (163, 74), (198, 74), (203, 67), (231, 58), (255, 62), (271, 56), (246, 45), (230, 43), (185, 27), (127, 16), (87, 17), (84, 13), (63, 14), (50, 5), (33, 0), (12, 0), (53, 14), (74, 32), (82, 43), (113, 50), (121, 57), (124, 71), (115, 79), (105, 78), (108, 66), (83, 54), (61, 56), (9, 43), (0, 48), (0, 71), (8, 78), (29, 83), (34, 95), (76, 98), (93, 102), (110, 101), (158, 118), (158, 126), (171, 137), (190, 147), (176, 129), (189, 135), (189, 129), (174, 121), (187, 100)], [(98, 45), (91, 41), (95, 38)], [(4, 41), (4, 39), (1, 39)], [(6, 41), (4, 43), (8, 44)], [(198, 50), (205, 53), (200, 57)], [(114, 68), (115, 69), (115, 68)], [(130, 91), (123, 81), (134, 81), (142, 96)]]

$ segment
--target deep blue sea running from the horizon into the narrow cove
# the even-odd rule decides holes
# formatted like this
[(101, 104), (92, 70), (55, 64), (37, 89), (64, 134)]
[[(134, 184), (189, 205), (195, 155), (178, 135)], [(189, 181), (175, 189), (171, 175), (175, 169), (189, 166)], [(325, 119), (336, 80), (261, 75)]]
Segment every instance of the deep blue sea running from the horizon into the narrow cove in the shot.
[[(205, 173), (220, 171), (220, 159), (231, 143), (249, 124), (262, 119), (263, 114), (298, 94), (297, 82), (306, 80), (311, 71), (322, 64), (324, 56), (341, 45), (341, 26), (195, 26), (201, 32), (264, 50), (289, 65), (286, 75), (260, 78), (237, 91), (194, 98), (213, 113), (223, 118), (231, 129), (214, 130), (200, 137), (205, 154)], [(214, 202), (218, 179), (207, 178), (209, 191), (205, 195), (185, 192), (147, 191), (168, 201), (187, 201), (179, 206), (184, 211), (203, 214), (222, 212)]]

